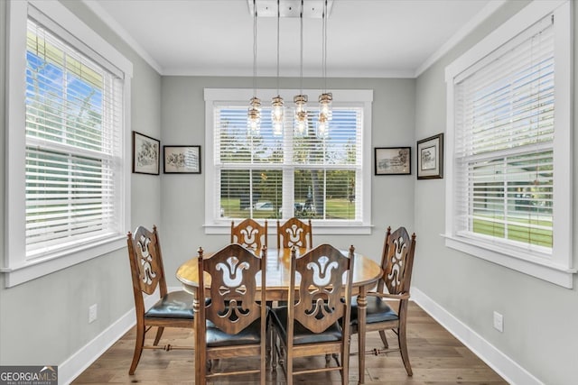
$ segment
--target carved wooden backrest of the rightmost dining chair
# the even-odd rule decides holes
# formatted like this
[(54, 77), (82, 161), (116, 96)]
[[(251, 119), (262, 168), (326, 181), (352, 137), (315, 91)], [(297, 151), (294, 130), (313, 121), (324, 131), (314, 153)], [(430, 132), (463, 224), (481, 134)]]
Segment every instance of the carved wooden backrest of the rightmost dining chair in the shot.
[(411, 238), (405, 227), (391, 232), (387, 227), (386, 240), (383, 245), (381, 269), (383, 275), (378, 281), (378, 291), (385, 288), (390, 294), (401, 294), (409, 291), (414, 267), (415, 234)]

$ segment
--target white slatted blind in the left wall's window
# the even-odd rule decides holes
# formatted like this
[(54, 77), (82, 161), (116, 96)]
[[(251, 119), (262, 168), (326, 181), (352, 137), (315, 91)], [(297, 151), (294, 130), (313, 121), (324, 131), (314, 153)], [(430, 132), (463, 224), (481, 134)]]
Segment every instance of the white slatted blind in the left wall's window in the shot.
[(118, 233), (123, 79), (96, 60), (28, 19), (27, 259)]

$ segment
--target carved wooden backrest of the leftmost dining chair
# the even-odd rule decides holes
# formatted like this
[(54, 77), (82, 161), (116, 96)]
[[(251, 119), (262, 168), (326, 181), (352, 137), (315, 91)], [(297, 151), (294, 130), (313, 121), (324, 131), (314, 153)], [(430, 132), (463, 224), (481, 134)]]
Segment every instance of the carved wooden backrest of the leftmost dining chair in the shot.
[(161, 243), (159, 243), (156, 226), (153, 226), (153, 232), (144, 226), (136, 227), (134, 234), (131, 232), (126, 234), (126, 243), (135, 302), (142, 304), (143, 293), (151, 295), (157, 287), (160, 287), (160, 295), (163, 297), (167, 293), (167, 287), (164, 277), (163, 254), (161, 253)]

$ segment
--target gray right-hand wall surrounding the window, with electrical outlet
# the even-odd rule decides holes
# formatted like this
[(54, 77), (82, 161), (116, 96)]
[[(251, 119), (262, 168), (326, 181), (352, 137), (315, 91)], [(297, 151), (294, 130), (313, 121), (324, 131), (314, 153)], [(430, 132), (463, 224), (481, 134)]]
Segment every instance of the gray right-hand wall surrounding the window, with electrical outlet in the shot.
[[(418, 139), (445, 131), (445, 66), (524, 5), (527, 2), (509, 2), (417, 78), (415, 136)], [(575, 16), (576, 11), (574, 20)], [(576, 37), (574, 44), (575, 41)], [(576, 62), (574, 60), (574, 79)], [(574, 183), (578, 180), (577, 171), (574, 159)], [(575, 187), (573, 191), (575, 197)], [(440, 236), (445, 226), (444, 194), (443, 179), (415, 182), (415, 229), (420, 252), (416, 256), (413, 286), (539, 380), (546, 384), (576, 383), (578, 295), (575, 277), (574, 289), (564, 289), (446, 248)], [(573, 218), (576, 234), (575, 214)], [(578, 237), (574, 235), (574, 239)], [(573, 254), (576, 254), (575, 243)], [(576, 264), (574, 257), (574, 266)], [(494, 310), (504, 316), (503, 333), (492, 327)]]

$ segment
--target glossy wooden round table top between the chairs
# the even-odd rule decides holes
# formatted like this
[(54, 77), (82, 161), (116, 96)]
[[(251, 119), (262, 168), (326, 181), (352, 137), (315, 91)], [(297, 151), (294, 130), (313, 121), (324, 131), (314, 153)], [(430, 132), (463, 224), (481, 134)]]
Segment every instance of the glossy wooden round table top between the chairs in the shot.
[[(298, 249), (297, 255), (302, 255), (304, 252), (306, 252), (306, 249)], [(341, 252), (345, 255), (348, 254), (346, 251)], [(204, 255), (208, 256), (210, 253), (205, 252)], [(194, 257), (189, 261), (185, 261), (176, 272), (177, 280), (180, 280), (184, 289), (192, 294), (194, 294), (196, 288), (199, 286), (199, 263), (197, 258), (198, 257)], [(289, 267), (291, 249), (268, 249), (266, 258), (267, 293), (272, 293), (272, 299), (284, 297), (291, 279), (291, 269)], [(381, 267), (376, 261), (357, 252), (355, 253), (353, 266), (354, 288), (377, 282), (381, 273)], [(205, 283), (210, 283), (210, 276), (208, 274), (205, 275)], [(275, 293), (277, 293), (277, 295), (275, 295)]]

